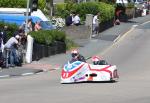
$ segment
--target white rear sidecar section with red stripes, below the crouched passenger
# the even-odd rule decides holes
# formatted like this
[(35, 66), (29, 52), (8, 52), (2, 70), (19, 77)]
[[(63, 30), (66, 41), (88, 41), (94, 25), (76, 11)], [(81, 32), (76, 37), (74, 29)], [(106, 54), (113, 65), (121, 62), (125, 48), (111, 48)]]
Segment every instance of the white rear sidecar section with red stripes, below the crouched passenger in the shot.
[(115, 65), (92, 65), (85, 74), (86, 81), (113, 81), (118, 77)]

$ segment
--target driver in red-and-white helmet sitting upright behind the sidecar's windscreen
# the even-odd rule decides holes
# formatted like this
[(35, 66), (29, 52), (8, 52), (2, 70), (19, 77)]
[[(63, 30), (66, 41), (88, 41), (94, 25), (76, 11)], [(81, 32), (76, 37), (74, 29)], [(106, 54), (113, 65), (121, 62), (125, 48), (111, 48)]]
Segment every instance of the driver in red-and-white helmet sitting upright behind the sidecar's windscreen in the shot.
[(71, 62), (75, 62), (75, 61), (86, 62), (85, 58), (81, 54), (79, 54), (77, 50), (72, 50), (71, 56), (72, 56)]

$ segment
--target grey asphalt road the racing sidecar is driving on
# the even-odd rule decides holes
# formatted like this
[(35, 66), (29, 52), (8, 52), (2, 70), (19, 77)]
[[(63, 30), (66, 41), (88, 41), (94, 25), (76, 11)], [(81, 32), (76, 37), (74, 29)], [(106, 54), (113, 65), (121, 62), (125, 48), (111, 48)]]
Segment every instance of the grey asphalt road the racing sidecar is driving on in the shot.
[(1, 103), (149, 103), (150, 23), (120, 38), (103, 56), (116, 64), (116, 83), (60, 84), (61, 70), (0, 79)]

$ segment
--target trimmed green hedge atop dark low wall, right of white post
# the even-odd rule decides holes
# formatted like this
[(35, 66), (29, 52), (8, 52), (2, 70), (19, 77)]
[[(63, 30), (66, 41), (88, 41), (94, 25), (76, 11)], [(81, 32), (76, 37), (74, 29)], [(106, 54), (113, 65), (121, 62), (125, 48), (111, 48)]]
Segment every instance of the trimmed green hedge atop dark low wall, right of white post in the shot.
[(65, 42), (66, 35), (63, 31), (58, 30), (40, 30), (29, 33), (37, 43), (51, 45), (54, 41)]

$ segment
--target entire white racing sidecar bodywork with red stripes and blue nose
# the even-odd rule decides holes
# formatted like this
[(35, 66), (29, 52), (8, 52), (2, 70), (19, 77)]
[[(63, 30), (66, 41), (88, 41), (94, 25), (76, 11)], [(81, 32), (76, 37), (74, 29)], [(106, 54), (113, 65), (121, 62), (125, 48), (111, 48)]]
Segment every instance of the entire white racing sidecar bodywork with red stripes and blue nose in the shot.
[(92, 65), (81, 61), (68, 62), (61, 73), (61, 83), (112, 81), (116, 78), (118, 74), (115, 65)]

